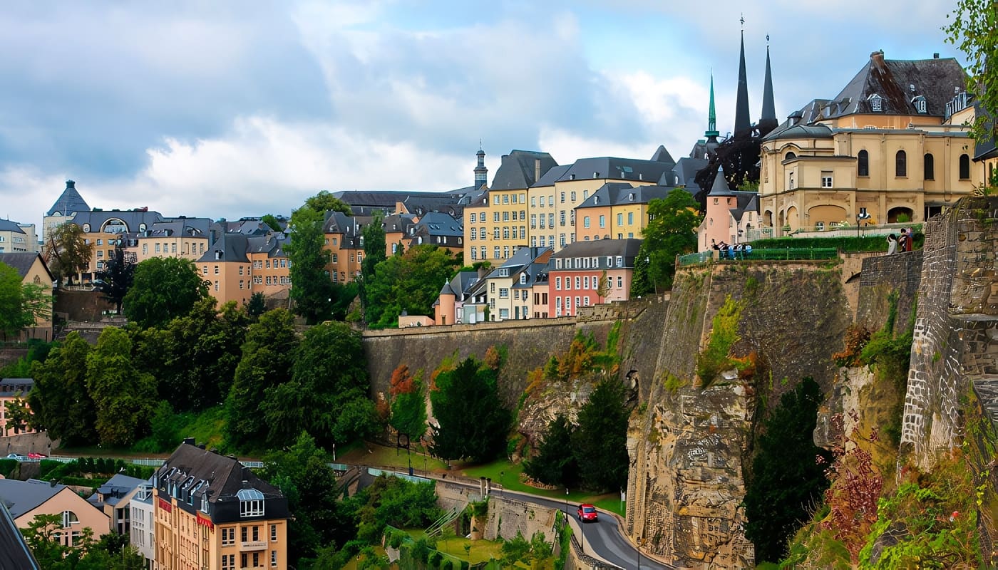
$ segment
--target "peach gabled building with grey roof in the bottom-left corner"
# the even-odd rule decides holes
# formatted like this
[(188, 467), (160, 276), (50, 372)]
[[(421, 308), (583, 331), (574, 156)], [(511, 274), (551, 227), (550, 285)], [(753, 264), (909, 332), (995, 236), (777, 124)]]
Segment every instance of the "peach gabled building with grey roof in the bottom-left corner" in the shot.
[(0, 500), (8, 505), (18, 528), (28, 528), (36, 515), (60, 515), (60, 528), (54, 536), (64, 546), (79, 544), (85, 528), (91, 529), (97, 540), (111, 532), (110, 517), (65, 485), (0, 479)]

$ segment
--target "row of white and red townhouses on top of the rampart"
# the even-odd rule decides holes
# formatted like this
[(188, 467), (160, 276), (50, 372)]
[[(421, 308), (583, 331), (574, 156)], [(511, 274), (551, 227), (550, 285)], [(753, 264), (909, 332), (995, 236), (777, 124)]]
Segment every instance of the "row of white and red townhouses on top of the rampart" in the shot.
[(574, 316), (584, 306), (628, 300), (640, 247), (626, 238), (558, 252), (520, 248), (497, 268), (458, 273), (441, 288), (427, 324)]

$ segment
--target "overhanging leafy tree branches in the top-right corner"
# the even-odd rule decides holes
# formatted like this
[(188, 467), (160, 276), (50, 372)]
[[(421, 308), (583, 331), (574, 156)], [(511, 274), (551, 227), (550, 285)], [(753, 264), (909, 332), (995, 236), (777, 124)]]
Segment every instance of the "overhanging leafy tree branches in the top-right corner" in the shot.
[(994, 139), (998, 129), (992, 119), (998, 113), (998, 4), (993, 0), (958, 0), (952, 19), (943, 26), (946, 41), (967, 58), (967, 89), (980, 104), (971, 133), (979, 143)]

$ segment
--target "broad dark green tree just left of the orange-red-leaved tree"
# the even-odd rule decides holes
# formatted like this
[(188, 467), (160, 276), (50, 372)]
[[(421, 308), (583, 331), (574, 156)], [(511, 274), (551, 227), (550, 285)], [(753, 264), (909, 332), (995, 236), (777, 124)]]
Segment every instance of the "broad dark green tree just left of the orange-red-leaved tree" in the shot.
[[(325, 446), (365, 435), (370, 418), (358, 411), (364, 402), (355, 400), (370, 402), (369, 389), (360, 333), (344, 322), (309, 328), (294, 354), (291, 379), (266, 388), (259, 404), (267, 441), (282, 445), (307, 431)], [(373, 404), (367, 409), (373, 416)], [(340, 420), (346, 411), (347, 419)]]

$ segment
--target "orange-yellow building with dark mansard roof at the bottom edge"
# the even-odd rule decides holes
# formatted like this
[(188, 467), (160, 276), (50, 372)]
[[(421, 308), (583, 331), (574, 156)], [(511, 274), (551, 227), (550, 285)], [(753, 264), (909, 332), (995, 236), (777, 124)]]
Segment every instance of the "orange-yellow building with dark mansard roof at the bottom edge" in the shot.
[(287, 568), (287, 499), (235, 458), (187, 439), (153, 476), (160, 570)]

